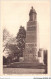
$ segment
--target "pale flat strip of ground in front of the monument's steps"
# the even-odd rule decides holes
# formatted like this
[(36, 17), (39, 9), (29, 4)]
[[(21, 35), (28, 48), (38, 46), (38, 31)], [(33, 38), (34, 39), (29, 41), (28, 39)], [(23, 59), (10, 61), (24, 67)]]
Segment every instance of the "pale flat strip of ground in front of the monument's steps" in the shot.
[(43, 74), (44, 69), (3, 68), (4, 74)]

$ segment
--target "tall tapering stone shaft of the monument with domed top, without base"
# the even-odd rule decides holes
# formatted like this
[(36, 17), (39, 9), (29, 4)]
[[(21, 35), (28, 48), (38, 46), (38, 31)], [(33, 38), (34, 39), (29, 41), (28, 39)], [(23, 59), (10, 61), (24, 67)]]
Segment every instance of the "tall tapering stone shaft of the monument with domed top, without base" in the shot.
[(24, 61), (36, 62), (37, 61), (37, 13), (33, 7), (29, 12), (29, 21), (27, 22), (26, 43)]

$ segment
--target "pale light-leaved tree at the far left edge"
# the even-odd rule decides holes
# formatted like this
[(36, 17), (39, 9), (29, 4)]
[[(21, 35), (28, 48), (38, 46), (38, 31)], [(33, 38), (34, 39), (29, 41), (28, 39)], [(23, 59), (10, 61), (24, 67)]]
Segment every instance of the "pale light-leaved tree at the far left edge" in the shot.
[[(12, 35), (9, 34), (7, 29), (3, 30), (3, 63), (6, 62), (12, 62), (13, 58), (13, 53), (12, 50), (10, 49), (11, 43), (15, 41), (15, 38), (12, 37)], [(9, 47), (10, 46), (10, 47)]]

